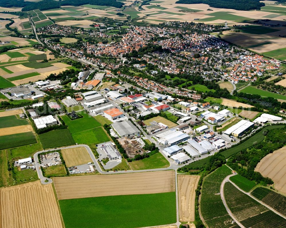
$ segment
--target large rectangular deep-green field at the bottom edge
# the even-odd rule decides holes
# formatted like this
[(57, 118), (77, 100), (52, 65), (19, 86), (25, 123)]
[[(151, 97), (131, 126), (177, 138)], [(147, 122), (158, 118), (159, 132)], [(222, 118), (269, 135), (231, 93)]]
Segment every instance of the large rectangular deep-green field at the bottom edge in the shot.
[[(76, 205), (76, 210), (71, 210)], [(176, 193), (59, 200), (66, 228), (135, 228), (176, 222)], [(77, 219), (74, 219), (74, 218)]]

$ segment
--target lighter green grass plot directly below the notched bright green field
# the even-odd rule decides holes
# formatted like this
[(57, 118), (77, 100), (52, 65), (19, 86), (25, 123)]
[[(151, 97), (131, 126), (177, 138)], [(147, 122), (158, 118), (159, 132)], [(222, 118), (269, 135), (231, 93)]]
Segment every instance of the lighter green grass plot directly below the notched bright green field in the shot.
[(78, 144), (98, 144), (110, 141), (102, 127), (77, 132), (72, 134), (72, 137)]

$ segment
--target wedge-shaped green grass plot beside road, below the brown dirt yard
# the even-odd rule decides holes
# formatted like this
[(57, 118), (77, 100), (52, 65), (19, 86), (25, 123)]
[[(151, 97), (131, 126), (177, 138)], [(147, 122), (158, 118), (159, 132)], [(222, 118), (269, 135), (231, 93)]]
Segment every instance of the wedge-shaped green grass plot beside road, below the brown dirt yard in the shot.
[(129, 165), (131, 166), (132, 170), (148, 170), (167, 168), (170, 166), (170, 163), (160, 152), (158, 152), (154, 155), (151, 155), (149, 158), (129, 162)]

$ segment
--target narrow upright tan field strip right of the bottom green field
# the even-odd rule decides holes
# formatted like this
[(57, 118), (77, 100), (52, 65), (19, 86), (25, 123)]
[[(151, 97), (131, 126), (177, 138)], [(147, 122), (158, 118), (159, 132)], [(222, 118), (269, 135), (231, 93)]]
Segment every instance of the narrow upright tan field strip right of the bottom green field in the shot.
[(178, 175), (179, 219), (182, 222), (195, 219), (195, 190), (200, 176)]

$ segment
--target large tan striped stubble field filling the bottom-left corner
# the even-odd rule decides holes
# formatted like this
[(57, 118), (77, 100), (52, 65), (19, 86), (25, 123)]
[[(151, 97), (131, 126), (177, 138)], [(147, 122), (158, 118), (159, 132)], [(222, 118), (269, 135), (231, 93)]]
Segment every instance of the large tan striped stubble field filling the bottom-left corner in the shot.
[(35, 181), (2, 188), (0, 198), (2, 228), (62, 227), (51, 184)]

